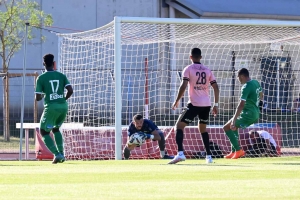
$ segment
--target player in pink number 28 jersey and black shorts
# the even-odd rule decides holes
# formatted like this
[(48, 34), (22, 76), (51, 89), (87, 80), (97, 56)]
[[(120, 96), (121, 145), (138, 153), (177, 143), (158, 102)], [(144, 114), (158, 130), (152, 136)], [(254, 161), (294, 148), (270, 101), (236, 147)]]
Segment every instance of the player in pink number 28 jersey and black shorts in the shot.
[[(183, 149), (183, 131), (187, 125), (193, 122), (195, 117), (198, 117), (198, 129), (201, 133), (206, 151), (206, 163), (213, 162), (206, 125), (209, 121), (210, 112), (212, 111), (214, 116), (218, 113), (219, 87), (210, 69), (200, 63), (201, 58), (201, 50), (199, 48), (193, 48), (190, 53), (190, 59), (193, 64), (183, 69), (183, 79), (178, 88), (176, 100), (172, 104), (172, 109), (175, 110), (188, 86), (189, 102), (186, 107), (182, 109), (182, 112), (175, 124), (175, 140), (178, 153), (173, 160), (169, 162), (169, 164), (176, 164), (178, 162), (185, 161), (186, 157)], [(212, 110), (209, 96), (210, 87), (213, 88), (215, 97)]]

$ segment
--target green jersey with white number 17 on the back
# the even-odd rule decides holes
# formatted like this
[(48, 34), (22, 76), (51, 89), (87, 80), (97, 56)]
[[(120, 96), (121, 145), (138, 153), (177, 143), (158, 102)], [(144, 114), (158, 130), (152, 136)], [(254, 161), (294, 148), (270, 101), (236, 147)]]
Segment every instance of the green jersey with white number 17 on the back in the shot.
[(70, 85), (67, 77), (57, 71), (46, 71), (36, 80), (35, 93), (44, 94), (44, 107), (50, 104), (67, 103), (64, 95), (65, 87)]

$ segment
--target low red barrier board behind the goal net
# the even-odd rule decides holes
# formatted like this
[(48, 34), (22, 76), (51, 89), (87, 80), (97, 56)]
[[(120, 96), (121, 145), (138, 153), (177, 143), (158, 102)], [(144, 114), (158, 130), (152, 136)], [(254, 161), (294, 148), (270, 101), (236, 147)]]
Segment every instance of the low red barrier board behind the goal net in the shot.
[[(173, 127), (160, 127), (166, 137), (166, 149), (169, 155), (177, 153), (175, 132)], [(240, 145), (247, 150), (250, 130), (265, 130), (272, 134), (277, 145), (281, 146), (281, 129), (277, 124), (256, 124), (247, 129), (239, 130)], [(230, 142), (222, 130), (222, 126), (208, 126), (210, 140), (216, 143), (224, 153), (230, 152)], [(51, 134), (52, 135), (52, 134)], [(101, 130), (74, 129), (63, 130), (65, 142), (65, 156), (67, 159), (114, 159), (115, 132), (112, 128)], [(122, 128), (122, 149), (127, 142), (127, 128)], [(204, 151), (201, 135), (196, 126), (188, 126), (184, 130), (184, 149), (187, 157), (192, 157)], [(39, 129), (36, 129), (36, 158), (53, 159), (52, 153), (44, 145)], [(141, 147), (131, 152), (131, 159), (157, 159), (159, 158), (157, 141), (146, 141)]]

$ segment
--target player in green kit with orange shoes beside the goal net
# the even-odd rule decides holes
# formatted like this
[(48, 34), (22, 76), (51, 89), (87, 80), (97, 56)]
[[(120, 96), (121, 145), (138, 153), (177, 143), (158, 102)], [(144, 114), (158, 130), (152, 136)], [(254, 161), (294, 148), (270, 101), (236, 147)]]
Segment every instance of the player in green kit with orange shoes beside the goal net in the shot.
[(249, 76), (249, 71), (242, 68), (238, 71), (241, 84), (241, 97), (233, 117), (224, 125), (223, 130), (231, 143), (231, 152), (224, 158), (238, 159), (245, 155), (239, 145), (238, 128), (246, 128), (258, 121), (260, 110), (259, 102), (263, 98), (262, 88), (257, 80)]

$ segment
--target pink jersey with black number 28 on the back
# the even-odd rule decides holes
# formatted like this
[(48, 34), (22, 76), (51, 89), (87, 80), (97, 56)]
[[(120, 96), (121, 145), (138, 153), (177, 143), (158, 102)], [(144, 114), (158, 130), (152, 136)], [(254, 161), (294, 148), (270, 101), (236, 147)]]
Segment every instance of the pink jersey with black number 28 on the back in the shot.
[(189, 103), (197, 107), (211, 106), (209, 89), (216, 79), (210, 69), (194, 62), (183, 69), (183, 80), (189, 82)]

